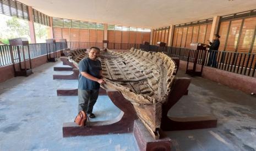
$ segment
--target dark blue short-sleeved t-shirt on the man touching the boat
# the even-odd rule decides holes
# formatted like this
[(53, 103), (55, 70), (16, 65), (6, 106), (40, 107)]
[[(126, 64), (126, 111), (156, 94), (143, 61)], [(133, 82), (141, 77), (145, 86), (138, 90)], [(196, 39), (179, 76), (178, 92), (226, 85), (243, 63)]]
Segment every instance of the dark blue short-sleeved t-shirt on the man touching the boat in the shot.
[[(100, 60), (91, 60), (88, 58), (85, 58), (81, 60), (78, 64), (79, 66), (79, 72), (87, 72), (88, 74), (91, 74), (92, 76), (96, 78), (100, 78), (100, 71), (101, 71), (101, 63)], [(78, 89), (81, 90), (95, 90), (99, 89), (100, 84), (90, 80), (88, 78), (85, 78), (81, 73), (78, 77)]]

